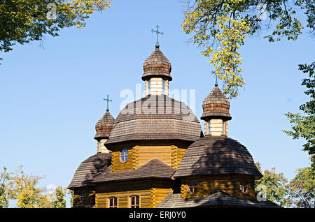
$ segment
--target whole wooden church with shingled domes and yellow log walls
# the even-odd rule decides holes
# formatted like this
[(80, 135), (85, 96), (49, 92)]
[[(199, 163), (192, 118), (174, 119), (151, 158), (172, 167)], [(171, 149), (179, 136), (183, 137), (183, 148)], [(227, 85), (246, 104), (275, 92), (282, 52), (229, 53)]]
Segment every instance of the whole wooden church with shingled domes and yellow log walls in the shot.
[(159, 45), (143, 68), (146, 96), (97, 121), (97, 154), (68, 186), (73, 207), (278, 207), (256, 199), (262, 175), (228, 137), (230, 102), (218, 85), (202, 104), (203, 133), (193, 111), (168, 96), (172, 65)]

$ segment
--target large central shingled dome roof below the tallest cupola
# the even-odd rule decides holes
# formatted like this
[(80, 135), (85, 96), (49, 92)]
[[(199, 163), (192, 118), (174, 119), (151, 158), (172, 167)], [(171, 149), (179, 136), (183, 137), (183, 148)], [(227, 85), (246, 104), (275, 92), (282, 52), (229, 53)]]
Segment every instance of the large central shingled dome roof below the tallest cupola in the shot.
[(128, 104), (113, 125), (106, 147), (130, 140), (186, 140), (200, 138), (202, 128), (193, 110), (169, 96), (148, 95)]

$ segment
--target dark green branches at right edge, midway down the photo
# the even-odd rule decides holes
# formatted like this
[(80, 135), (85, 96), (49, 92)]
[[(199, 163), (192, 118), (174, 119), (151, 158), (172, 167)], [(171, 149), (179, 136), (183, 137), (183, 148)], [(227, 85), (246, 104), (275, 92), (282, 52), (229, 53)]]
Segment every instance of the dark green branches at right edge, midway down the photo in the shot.
[(303, 145), (303, 150), (307, 151), (311, 157), (312, 167), (315, 169), (315, 62), (310, 65), (299, 65), (299, 69), (303, 73), (308, 73), (309, 78), (302, 80), (302, 85), (307, 87), (305, 94), (311, 97), (307, 103), (300, 105), (300, 110), (304, 115), (299, 113), (286, 113), (290, 124), (293, 124), (292, 131), (283, 131), (293, 139), (304, 138), (306, 143)]

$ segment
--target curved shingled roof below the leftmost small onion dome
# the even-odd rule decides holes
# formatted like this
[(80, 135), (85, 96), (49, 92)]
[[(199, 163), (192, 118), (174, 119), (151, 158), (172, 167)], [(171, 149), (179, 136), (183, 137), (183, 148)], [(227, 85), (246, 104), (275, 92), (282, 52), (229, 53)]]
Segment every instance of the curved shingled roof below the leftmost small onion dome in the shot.
[(102, 170), (111, 165), (111, 154), (95, 154), (80, 163), (73, 179), (67, 188), (77, 188), (90, 185), (90, 180)]

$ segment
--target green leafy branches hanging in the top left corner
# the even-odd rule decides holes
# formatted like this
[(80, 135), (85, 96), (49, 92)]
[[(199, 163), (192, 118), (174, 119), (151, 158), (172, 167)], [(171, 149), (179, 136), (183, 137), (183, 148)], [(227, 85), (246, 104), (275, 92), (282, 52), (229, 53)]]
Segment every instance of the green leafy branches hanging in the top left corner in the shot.
[(85, 27), (95, 10), (104, 10), (109, 0), (6, 0), (0, 1), (0, 52), (16, 43), (58, 36), (64, 27)]

